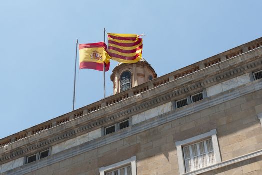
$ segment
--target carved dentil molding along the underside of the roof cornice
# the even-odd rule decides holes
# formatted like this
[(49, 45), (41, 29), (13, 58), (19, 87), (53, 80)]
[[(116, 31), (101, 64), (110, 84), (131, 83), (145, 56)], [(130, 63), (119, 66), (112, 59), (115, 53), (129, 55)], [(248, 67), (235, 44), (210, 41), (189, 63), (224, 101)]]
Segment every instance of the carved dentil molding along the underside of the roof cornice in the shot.
[[(11, 161), (12, 159), (16, 159), (21, 156), (31, 154), (34, 151), (36, 151), (37, 149), (50, 147), (54, 144), (60, 143), (67, 139), (71, 139), (75, 137), (76, 135), (81, 135), (91, 130), (94, 130), (97, 127), (103, 127), (105, 125), (112, 124), (119, 119), (125, 119), (134, 114), (143, 112), (145, 110), (156, 107), (158, 105), (169, 102), (171, 100), (177, 100), (181, 98), (182, 95), (187, 94), (191, 91), (197, 91), (197, 90), (201, 91), (203, 90), (203, 88), (210, 86), (210, 84), (219, 83), (229, 78), (233, 78), (238, 75), (244, 74), (247, 71), (252, 71), (260, 65), (262, 65), (262, 58), (256, 58), (255, 60), (248, 62), (244, 65), (242, 64), (242, 65), (235, 66), (235, 67), (232, 66), (227, 71), (223, 71), (213, 76), (209, 76), (206, 79), (201, 79), (195, 82), (187, 83), (186, 85), (181, 84), (180, 86), (175, 86), (174, 85), (175, 81), (171, 81), (167, 84), (157, 87), (157, 88), (164, 88), (166, 90), (166, 93), (159, 92), (159, 94), (155, 94), (155, 97), (151, 99), (145, 99), (147, 100), (145, 102), (142, 102), (143, 94), (132, 96), (133, 98), (136, 98), (136, 101), (140, 101), (140, 102), (136, 105), (130, 104), (131, 106), (129, 106), (127, 109), (116, 111), (114, 114), (108, 115), (100, 119), (96, 119), (91, 122), (89, 121), (89, 123), (78, 126), (76, 128), (71, 128), (65, 132), (64, 132), (64, 129), (61, 128), (62, 133), (55, 132), (53, 133), (53, 135), (50, 135), (50, 137), (45, 138), (45, 140), (40, 140), (40, 142), (35, 141), (34, 143), (30, 143), (30, 145), (27, 145), (25, 147), (18, 148), (13, 151), (8, 150), (6, 153), (0, 156), (0, 162), (2, 164), (8, 161)], [(209, 68), (212, 68), (212, 67), (209, 67)], [(149, 93), (150, 91), (146, 91), (146, 92)]]

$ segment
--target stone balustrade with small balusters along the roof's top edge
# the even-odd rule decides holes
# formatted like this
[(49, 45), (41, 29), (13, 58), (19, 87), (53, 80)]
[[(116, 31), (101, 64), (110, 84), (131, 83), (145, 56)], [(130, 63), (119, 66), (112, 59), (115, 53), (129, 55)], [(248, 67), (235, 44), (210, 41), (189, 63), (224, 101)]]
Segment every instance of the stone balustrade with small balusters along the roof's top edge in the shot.
[(231, 59), (235, 56), (238, 56), (240, 54), (243, 54), (245, 52), (248, 52), (250, 50), (253, 50), (253, 49), (256, 49), (256, 48), (259, 48), (259, 47), (262, 47), (262, 38), (256, 39), (254, 41), (251, 41), (251, 42), (243, 44), (243, 45), (240, 45), (236, 48), (225, 51), (223, 53), (212, 56), (210, 58), (204, 59), (200, 62), (189, 65), (187, 67), (176, 70), (174, 72), (168, 73), (164, 76), (158, 77), (158, 78), (153, 79), (151, 81), (148, 81), (144, 84), (138, 85), (136, 87), (125, 90), (125, 91), (120, 92), (118, 94), (109, 96), (109, 97), (102, 99), (100, 101), (97, 101), (93, 104), (87, 105), (85, 107), (79, 108), (77, 110), (74, 110), (74, 111), (69, 112), (67, 114), (64, 114), (62, 116), (56, 117), (54, 119), (51, 119), (51, 120), (46, 121), (44, 123), (41, 123), (39, 125), (33, 126), (31, 128), (28, 128), (28, 129), (23, 130), (21, 132), (18, 132), (16, 134), (2, 138), (2, 139), (0, 139), (0, 147), (6, 146), (6, 145), (8, 145), (12, 142), (18, 141), (18, 140), (22, 140), (22, 139), (24, 139), (24, 138), (26, 138), (30, 135), (37, 134), (37, 133), (42, 132), (44, 130), (50, 129), (50, 128), (56, 126), (56, 125), (60, 125), (60, 124), (63, 124), (65, 122), (68, 122), (70, 120), (79, 118), (79, 117), (86, 115), (88, 113), (98, 111), (103, 107), (112, 105), (116, 102), (125, 100), (125, 99), (130, 98), (130, 97), (137, 95), (139, 93), (146, 92), (147, 90), (150, 90), (152, 88), (155, 88), (155, 87), (158, 87), (160, 85), (169, 83), (171, 81), (180, 79), (180, 77), (190, 75), (191, 73), (199, 71), (199, 70), (204, 69), (206, 67), (216, 66), (216, 64), (219, 63), (219, 62), (223, 62), (227, 59)]

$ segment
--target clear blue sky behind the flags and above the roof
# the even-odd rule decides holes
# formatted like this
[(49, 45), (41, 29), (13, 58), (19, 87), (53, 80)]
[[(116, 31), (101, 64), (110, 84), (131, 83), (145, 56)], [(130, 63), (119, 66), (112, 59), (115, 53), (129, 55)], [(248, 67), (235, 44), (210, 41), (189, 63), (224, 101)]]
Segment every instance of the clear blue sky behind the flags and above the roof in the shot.
[[(104, 27), (145, 34), (143, 57), (162, 76), (262, 37), (261, 9), (262, 0), (0, 0), (0, 138), (72, 110), (76, 39), (103, 41)], [(103, 98), (102, 72), (77, 70), (76, 80), (76, 108)]]

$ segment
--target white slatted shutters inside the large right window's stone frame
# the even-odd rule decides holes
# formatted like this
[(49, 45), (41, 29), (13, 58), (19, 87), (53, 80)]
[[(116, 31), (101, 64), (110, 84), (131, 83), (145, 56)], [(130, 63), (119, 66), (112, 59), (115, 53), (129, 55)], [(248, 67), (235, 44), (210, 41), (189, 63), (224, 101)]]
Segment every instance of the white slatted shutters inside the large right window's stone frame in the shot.
[(186, 172), (216, 163), (211, 139), (185, 146), (183, 152)]

